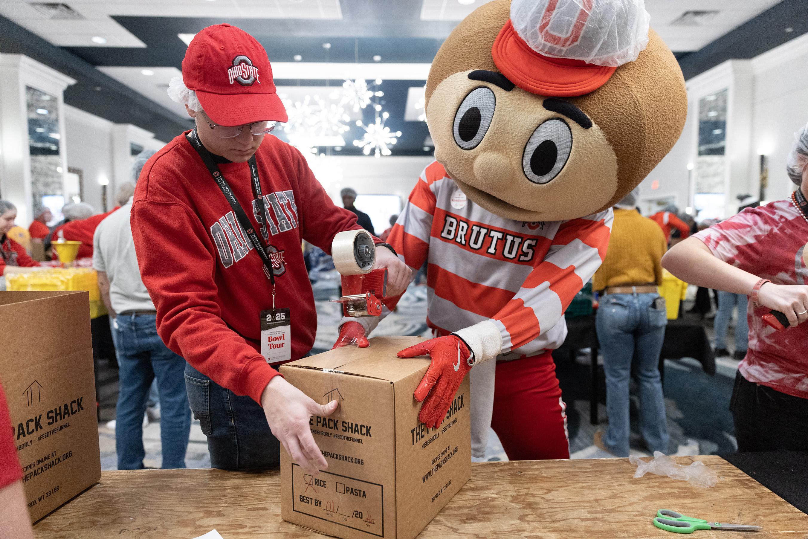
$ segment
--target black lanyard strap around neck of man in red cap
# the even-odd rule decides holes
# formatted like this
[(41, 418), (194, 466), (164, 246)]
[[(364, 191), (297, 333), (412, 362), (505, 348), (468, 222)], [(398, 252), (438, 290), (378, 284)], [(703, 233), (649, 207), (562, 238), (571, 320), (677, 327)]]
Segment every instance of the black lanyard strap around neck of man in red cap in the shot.
[[(269, 280), (272, 283), (272, 308), (275, 308), (275, 272), (272, 270), (272, 261), (267, 255), (267, 250), (269, 246), (264, 246), (263, 241), (259, 238), (259, 235), (256, 233), (255, 227), (250, 222), (250, 217), (247, 217), (244, 208), (242, 208), (242, 204), (238, 202), (233, 189), (230, 188), (230, 184), (227, 183), (225, 176), (221, 174), (219, 170), (219, 166), (217, 166), (216, 162), (213, 161), (213, 157), (211, 157), (208, 149), (202, 145), (202, 142), (199, 139), (199, 136), (196, 134), (196, 129), (191, 131), (191, 145), (196, 149), (196, 153), (200, 154), (200, 158), (202, 158), (202, 162), (204, 162), (205, 166), (208, 167), (208, 171), (213, 176), (213, 179), (216, 180), (217, 185), (221, 189), (221, 193), (225, 196), (228, 203), (230, 204), (230, 208), (233, 208), (233, 213), (236, 214), (236, 219), (238, 219), (238, 224), (242, 225), (242, 229), (247, 234), (247, 238), (250, 239), (250, 243), (252, 246), (255, 247), (255, 252), (261, 257), (263, 261), (263, 267), (269, 276)], [(269, 218), (266, 212), (266, 204), (263, 203), (263, 194), (261, 192), (261, 180), (259, 179), (258, 175), (258, 166), (255, 164), (255, 154), (250, 158), (248, 161), (250, 164), (250, 174), (252, 175), (252, 187), (253, 187), (253, 196), (255, 196), (255, 203), (258, 204), (259, 215), (263, 216), (264, 219)], [(267, 226), (268, 229), (268, 226)]]

